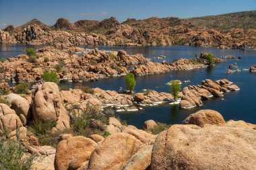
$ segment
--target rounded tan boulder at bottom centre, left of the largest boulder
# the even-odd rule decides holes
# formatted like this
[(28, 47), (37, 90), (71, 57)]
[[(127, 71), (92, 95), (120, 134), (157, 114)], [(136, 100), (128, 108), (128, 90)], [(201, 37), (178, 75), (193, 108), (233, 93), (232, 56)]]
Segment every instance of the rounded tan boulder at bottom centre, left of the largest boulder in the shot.
[(129, 134), (110, 135), (92, 153), (88, 169), (122, 169), (141, 145), (142, 142)]

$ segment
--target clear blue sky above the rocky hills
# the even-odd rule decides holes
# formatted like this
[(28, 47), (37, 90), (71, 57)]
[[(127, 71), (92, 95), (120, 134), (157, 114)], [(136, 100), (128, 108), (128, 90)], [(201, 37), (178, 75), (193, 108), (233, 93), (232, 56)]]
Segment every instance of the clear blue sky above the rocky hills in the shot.
[(78, 19), (195, 17), (256, 9), (256, 0), (0, 0), (0, 29), (20, 26), (33, 18), (47, 25), (59, 17)]

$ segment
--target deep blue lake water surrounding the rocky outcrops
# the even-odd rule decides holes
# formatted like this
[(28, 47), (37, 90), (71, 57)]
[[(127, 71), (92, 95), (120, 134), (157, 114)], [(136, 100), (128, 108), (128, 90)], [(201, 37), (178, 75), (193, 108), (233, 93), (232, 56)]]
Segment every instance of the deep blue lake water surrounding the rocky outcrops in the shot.
[[(26, 46), (18, 44), (15, 45), (0, 45), (0, 56), (9, 57), (24, 53)], [(84, 46), (86, 47), (86, 46)], [(88, 47), (92, 48), (92, 47)], [(229, 50), (216, 48), (198, 48), (192, 46), (156, 46), (156, 47), (113, 47), (113, 46), (99, 46), (99, 49), (104, 50), (127, 50), (129, 54), (141, 53), (156, 62), (162, 60), (156, 58), (164, 55), (169, 62), (178, 58), (193, 58), (195, 54), (200, 52), (210, 52), (218, 57), (225, 55), (241, 56), (241, 60), (226, 59), (227, 62), (220, 63), (214, 68), (196, 69), (191, 71), (171, 71), (170, 73), (160, 75), (146, 75), (137, 76), (135, 91), (142, 91), (143, 89), (154, 89), (156, 91), (169, 91), (168, 85), (165, 85), (172, 79), (179, 79), (181, 81), (190, 80), (191, 83), (183, 83), (183, 87), (187, 85), (197, 85), (204, 79), (228, 79), (234, 82), (240, 91), (224, 93), (224, 97), (212, 97), (212, 99), (204, 100), (203, 106), (193, 108), (191, 110), (183, 110), (178, 106), (172, 105), (158, 105), (153, 107), (145, 107), (139, 112), (121, 112), (117, 115), (126, 120), (128, 124), (133, 124), (141, 128), (145, 120), (156, 120), (167, 124), (180, 124), (189, 114), (202, 109), (212, 109), (220, 112), (225, 120), (245, 120), (256, 124), (256, 73), (249, 71), (241, 71), (240, 73), (226, 74), (228, 65), (236, 65), (238, 69), (249, 69), (252, 65), (256, 65), (256, 51), (247, 49)], [(3, 50), (3, 51), (2, 51)], [(100, 79), (94, 82), (84, 83), (65, 83), (66, 85), (88, 85), (90, 87), (100, 87), (102, 89), (110, 89), (118, 91), (119, 87), (125, 87), (125, 77), (113, 77), (108, 79)]]

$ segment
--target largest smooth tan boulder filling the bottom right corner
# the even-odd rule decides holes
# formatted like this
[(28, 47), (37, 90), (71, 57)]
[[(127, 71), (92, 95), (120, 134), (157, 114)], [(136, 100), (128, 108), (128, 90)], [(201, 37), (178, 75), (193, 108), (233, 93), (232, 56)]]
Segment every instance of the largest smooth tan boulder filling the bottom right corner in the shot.
[(255, 129), (230, 124), (171, 126), (156, 138), (150, 169), (255, 169)]

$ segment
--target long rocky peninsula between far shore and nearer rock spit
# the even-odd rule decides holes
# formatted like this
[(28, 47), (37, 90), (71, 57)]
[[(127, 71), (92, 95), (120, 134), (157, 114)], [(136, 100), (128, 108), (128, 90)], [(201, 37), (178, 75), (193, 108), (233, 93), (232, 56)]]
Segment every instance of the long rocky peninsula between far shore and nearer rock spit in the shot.
[[(13, 83), (40, 82), (42, 73), (56, 72), (59, 80), (96, 81), (103, 77), (126, 75), (129, 67), (135, 75), (167, 73), (207, 67), (205, 54), (193, 60), (180, 59), (174, 62), (150, 62), (142, 54), (127, 54), (124, 50), (89, 50), (79, 47), (65, 47), (63, 50), (46, 46), (38, 49), (35, 56), (20, 54), (0, 62), (0, 79)], [(78, 56), (82, 52), (82, 56)], [(215, 57), (216, 62), (224, 60)]]

